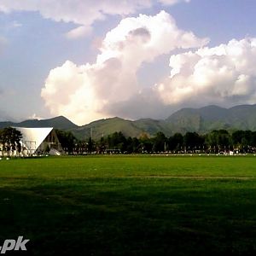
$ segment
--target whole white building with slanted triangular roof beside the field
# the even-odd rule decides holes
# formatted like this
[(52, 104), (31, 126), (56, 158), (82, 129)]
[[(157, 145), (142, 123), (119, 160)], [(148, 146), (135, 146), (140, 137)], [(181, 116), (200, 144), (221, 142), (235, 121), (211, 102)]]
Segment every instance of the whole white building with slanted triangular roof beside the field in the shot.
[(25, 155), (32, 155), (49, 151), (49, 154), (60, 155), (62, 148), (58, 137), (52, 127), (46, 128), (25, 128), (15, 127), (20, 131), (22, 138), (20, 140), (22, 152)]

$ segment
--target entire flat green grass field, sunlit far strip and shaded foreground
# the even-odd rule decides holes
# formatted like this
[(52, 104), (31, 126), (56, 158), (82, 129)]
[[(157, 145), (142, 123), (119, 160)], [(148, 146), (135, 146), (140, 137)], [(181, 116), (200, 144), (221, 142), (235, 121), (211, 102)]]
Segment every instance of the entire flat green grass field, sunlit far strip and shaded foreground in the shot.
[(256, 157), (0, 160), (0, 209), (15, 255), (255, 255)]

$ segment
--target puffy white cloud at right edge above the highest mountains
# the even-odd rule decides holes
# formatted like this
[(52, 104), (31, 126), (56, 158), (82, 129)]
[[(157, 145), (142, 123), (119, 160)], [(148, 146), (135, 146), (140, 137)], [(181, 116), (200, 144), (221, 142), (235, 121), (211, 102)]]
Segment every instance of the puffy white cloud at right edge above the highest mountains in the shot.
[(155, 90), (166, 104), (256, 102), (256, 38), (172, 55), (171, 76)]

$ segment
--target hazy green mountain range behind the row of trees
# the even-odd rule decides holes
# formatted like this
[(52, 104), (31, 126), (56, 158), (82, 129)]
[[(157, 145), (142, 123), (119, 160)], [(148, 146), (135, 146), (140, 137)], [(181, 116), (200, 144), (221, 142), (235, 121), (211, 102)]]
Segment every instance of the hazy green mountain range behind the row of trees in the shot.
[(122, 131), (126, 137), (139, 137), (143, 133), (154, 136), (162, 131), (167, 137), (175, 132), (195, 131), (206, 133), (212, 130), (251, 130), (256, 131), (256, 105), (240, 105), (233, 108), (207, 106), (204, 108), (183, 108), (172, 113), (167, 119), (137, 119), (134, 121), (118, 117), (100, 119), (88, 125), (75, 125), (69, 119), (59, 116), (53, 119), (29, 119), (20, 123), (0, 122), (0, 129), (7, 126), (54, 127), (72, 131), (75, 137), (93, 139)]

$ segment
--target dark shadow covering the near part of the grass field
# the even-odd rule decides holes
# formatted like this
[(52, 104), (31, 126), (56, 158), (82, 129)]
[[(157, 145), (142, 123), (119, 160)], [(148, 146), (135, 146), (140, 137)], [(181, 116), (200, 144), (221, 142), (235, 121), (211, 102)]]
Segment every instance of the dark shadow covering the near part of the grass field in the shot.
[(253, 255), (254, 188), (136, 178), (9, 186), (0, 189), (0, 243), (30, 239), (15, 255)]

